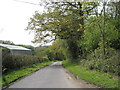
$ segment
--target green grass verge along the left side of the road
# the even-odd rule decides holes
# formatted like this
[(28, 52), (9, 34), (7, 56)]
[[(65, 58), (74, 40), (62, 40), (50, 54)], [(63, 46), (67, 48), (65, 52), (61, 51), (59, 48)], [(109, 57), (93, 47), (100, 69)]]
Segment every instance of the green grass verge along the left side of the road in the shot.
[(23, 77), (26, 76), (36, 70), (39, 70), (40, 68), (52, 64), (52, 61), (48, 61), (48, 62), (42, 62), (42, 63), (38, 63), (38, 64), (34, 64), (32, 66), (28, 66), (28, 67), (22, 67), (21, 69), (15, 69), (12, 71), (7, 72), (6, 74), (3, 74), (2, 78), (2, 86), (8, 85), (9, 83)]

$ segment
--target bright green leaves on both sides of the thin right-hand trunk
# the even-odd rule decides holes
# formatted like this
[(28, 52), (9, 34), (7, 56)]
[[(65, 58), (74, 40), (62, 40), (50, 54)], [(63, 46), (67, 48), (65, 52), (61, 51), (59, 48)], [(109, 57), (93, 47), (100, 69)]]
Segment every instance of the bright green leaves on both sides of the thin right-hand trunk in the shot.
[[(95, 50), (102, 45), (102, 34), (104, 34), (105, 47), (110, 47), (112, 42), (120, 37), (117, 28), (115, 27), (114, 19), (107, 16), (105, 26), (103, 25), (104, 17), (90, 17), (85, 23), (85, 30), (82, 40), (82, 46), (86, 51)], [(105, 30), (103, 32), (103, 27)]]

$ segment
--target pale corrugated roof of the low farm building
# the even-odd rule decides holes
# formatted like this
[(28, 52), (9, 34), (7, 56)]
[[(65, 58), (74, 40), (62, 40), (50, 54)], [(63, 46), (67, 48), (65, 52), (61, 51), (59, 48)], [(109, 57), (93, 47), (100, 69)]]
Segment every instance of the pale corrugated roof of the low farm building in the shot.
[(8, 44), (0, 44), (1, 47), (5, 47), (11, 50), (30, 50), (22, 46), (8, 45)]

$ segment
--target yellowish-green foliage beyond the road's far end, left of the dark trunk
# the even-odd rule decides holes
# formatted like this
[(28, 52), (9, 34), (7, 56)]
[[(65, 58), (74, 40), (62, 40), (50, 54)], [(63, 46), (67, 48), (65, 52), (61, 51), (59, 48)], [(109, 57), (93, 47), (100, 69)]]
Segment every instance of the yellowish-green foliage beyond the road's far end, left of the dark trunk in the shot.
[(71, 60), (71, 54), (68, 50), (67, 40), (64, 39), (56, 39), (52, 45), (47, 47), (36, 47), (35, 55), (47, 58), (49, 60)]

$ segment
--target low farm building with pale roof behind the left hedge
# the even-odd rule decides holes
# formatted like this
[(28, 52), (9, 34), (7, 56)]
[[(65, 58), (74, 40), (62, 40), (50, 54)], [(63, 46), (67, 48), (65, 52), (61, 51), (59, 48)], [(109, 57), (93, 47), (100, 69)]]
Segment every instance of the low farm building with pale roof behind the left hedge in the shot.
[(8, 44), (0, 44), (2, 51), (8, 52), (10, 54), (24, 54), (24, 55), (32, 55), (30, 49), (27, 49), (22, 46), (8, 45)]

